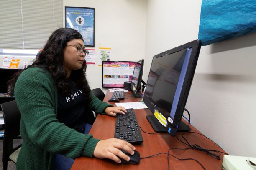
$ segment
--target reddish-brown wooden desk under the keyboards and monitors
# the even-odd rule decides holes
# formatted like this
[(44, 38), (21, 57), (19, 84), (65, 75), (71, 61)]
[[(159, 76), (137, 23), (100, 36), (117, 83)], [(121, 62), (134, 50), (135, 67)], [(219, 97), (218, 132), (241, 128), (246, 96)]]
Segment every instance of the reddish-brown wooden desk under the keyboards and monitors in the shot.
[[(104, 98), (104, 102), (108, 102), (108, 99), (112, 96), (113, 92), (107, 92)], [(120, 100), (120, 102), (136, 102), (136, 100), (141, 100), (141, 98), (128, 97), (130, 93), (125, 92), (125, 100)], [(112, 103), (111, 103), (112, 104)], [(146, 132), (153, 133), (154, 130), (146, 119), (146, 115), (152, 115), (148, 109), (138, 109), (135, 110), (135, 114), (138, 120), (138, 124)], [(192, 115), (193, 116), (193, 115)], [(191, 132), (198, 132), (196, 128), (191, 127)], [(115, 133), (115, 117), (110, 117), (107, 115), (98, 115), (90, 134), (94, 138), (108, 139), (113, 138)], [(157, 153), (167, 153), (169, 148), (187, 148), (186, 145), (182, 144), (177, 138), (170, 136), (168, 133), (159, 134), (147, 134), (141, 131), (144, 142), (139, 145), (135, 145), (136, 150), (142, 157), (149, 155), (154, 155)], [(177, 133), (177, 137), (182, 139), (182, 133)], [(219, 150), (222, 152), (218, 146), (216, 146), (212, 141), (198, 135), (195, 133), (188, 133), (185, 138), (189, 141), (191, 145), (195, 143), (200, 145), (202, 148)], [(169, 154), (176, 156), (177, 158), (193, 158), (198, 160), (207, 170), (220, 170), (221, 163), (223, 159), (223, 154), (221, 155), (221, 160), (210, 157), (206, 153), (200, 152), (198, 150), (170, 150)], [(182, 170), (182, 169), (203, 169), (195, 160), (177, 160), (176, 158), (169, 155), (169, 164), (171, 169)], [(108, 159), (98, 159), (98, 158), (86, 158), (80, 157), (75, 159), (71, 170), (106, 170), (106, 169), (119, 169), (122, 170), (168, 170), (167, 155), (160, 154), (151, 158), (141, 159), (138, 165), (127, 165), (118, 164), (112, 160)]]

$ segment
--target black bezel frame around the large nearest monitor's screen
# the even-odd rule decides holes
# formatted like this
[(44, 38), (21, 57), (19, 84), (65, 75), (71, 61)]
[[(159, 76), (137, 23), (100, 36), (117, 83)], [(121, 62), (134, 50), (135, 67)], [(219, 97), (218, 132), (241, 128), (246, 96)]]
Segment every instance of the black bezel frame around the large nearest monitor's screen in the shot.
[[(165, 52), (161, 52), (161, 53), (155, 55), (152, 58), (150, 69), (152, 67), (152, 63), (153, 63), (153, 60), (155, 58), (162, 57), (162, 56), (165, 56), (165, 55), (169, 55), (169, 54), (172, 54), (172, 53), (175, 53), (175, 52), (179, 52), (179, 51), (184, 50), (186, 48), (192, 48), (192, 51), (191, 51), (191, 54), (190, 54), (190, 57), (189, 57), (189, 63), (188, 63), (188, 66), (187, 66), (187, 71), (185, 73), (184, 82), (183, 82), (183, 85), (182, 85), (182, 90), (181, 90), (179, 100), (178, 100), (178, 104), (177, 104), (177, 109), (175, 110), (175, 115), (174, 115), (174, 118), (173, 118), (173, 122), (172, 123), (169, 122), (168, 121), (169, 117), (166, 117), (166, 115), (164, 115), (164, 117), (166, 117), (166, 120), (167, 120), (167, 125), (166, 125), (166, 127), (163, 126), (164, 127), (163, 129), (168, 131), (170, 133), (170, 135), (172, 135), (172, 136), (175, 136), (175, 134), (177, 133), (177, 130), (179, 128), (179, 125), (180, 125), (180, 122), (181, 122), (181, 119), (182, 119), (184, 108), (185, 108), (187, 98), (188, 98), (188, 95), (189, 95), (189, 90), (190, 90), (190, 87), (192, 85), (192, 80), (193, 80), (193, 77), (194, 77), (194, 74), (195, 74), (195, 67), (197, 65), (197, 60), (198, 60), (198, 56), (199, 56), (199, 53), (200, 53), (201, 45), (202, 45), (202, 41), (197, 39), (197, 40), (188, 42), (184, 45), (174, 47), (174, 48), (172, 48), (170, 50), (167, 50)], [(190, 71), (188, 71), (188, 70), (190, 70)], [(144, 97), (146, 97), (146, 95)], [(148, 97), (146, 97), (146, 98), (148, 99)], [(149, 100), (149, 99), (147, 100), (147, 99), (146, 100), (143, 99), (143, 101), (148, 106), (148, 108), (152, 112), (152, 114), (154, 115), (154, 107), (152, 107), (152, 104), (154, 105), (154, 103), (151, 102), (151, 100)], [(150, 101), (150, 102), (148, 102), (148, 101)]]

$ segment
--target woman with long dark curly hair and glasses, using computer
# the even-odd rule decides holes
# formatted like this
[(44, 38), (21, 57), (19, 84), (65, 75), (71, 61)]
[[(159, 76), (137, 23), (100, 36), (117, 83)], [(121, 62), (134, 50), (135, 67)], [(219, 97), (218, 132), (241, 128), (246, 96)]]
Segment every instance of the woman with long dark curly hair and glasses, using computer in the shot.
[(21, 113), (18, 170), (69, 169), (80, 156), (129, 160), (120, 149), (133, 155), (135, 147), (124, 140), (84, 135), (95, 120), (92, 110), (110, 116), (126, 112), (92, 94), (85, 77), (85, 52), (79, 32), (60, 28), (35, 62), (9, 81)]

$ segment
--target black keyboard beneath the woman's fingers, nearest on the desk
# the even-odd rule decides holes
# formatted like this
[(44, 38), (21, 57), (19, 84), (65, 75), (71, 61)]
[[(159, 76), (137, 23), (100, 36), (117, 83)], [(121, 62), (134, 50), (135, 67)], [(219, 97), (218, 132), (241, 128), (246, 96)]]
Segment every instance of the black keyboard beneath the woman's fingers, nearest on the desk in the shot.
[(142, 143), (143, 138), (133, 109), (126, 109), (125, 115), (117, 114), (114, 138), (122, 139), (131, 144)]

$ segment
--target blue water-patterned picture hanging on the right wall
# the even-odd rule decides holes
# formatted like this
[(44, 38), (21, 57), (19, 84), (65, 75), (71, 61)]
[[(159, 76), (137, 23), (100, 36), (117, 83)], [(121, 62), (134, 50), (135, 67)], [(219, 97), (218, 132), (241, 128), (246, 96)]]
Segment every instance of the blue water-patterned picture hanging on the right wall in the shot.
[(202, 45), (256, 32), (256, 0), (202, 0)]

